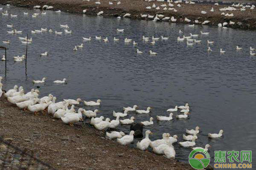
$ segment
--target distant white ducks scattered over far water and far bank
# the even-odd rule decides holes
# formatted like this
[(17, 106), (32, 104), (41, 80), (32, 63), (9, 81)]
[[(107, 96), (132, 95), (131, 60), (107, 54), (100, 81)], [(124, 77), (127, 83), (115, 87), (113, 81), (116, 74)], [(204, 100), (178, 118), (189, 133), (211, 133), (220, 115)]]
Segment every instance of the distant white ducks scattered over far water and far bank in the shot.
[[(148, 0), (149, 2), (151, 1), (151, 0)], [(157, 1), (161, 1), (161, 0), (157, 0)], [(168, 3), (169, 3), (169, 6), (170, 7), (172, 7), (173, 6), (173, 4), (172, 4), (172, 1), (170, 1), (170, 0), (168, 0), (167, 1)], [(176, 0), (175, 2), (174, 2), (174, 4), (177, 4), (177, 6), (178, 5), (180, 5), (180, 3), (182, 3), (182, 1), (181, 0)], [(188, 1), (185, 1), (185, 4), (193, 4), (193, 3), (195, 3), (195, 2), (192, 2), (192, 1), (190, 1), (190, 2), (188, 2)], [(99, 1), (97, 1), (96, 2), (96, 4), (100, 4), (100, 2)], [(9, 4), (7, 4), (6, 6), (10, 6)], [(161, 7), (164, 7), (164, 8), (166, 8), (166, 4), (162, 4), (162, 5), (160, 5)], [(218, 3), (216, 3), (215, 4), (215, 6), (218, 6)], [(50, 9), (52, 9), (52, 8), (54, 8), (53, 6), (47, 6), (47, 5), (44, 5), (43, 7), (41, 7), (41, 6), (34, 6), (34, 8), (35, 9), (43, 9), (43, 10), (50, 10)], [(148, 9), (149, 9), (149, 7), (147, 7)], [(156, 8), (156, 9), (158, 9), (158, 8), (160, 8), (159, 6), (157, 7), (157, 6), (155, 6), (155, 4), (153, 4), (153, 6), (152, 6), (152, 8)], [(244, 6), (244, 5), (242, 5), (242, 4), (233, 4), (232, 5), (232, 7), (225, 7), (225, 8), (219, 8), (219, 10), (220, 11), (236, 11), (236, 10), (238, 10), (237, 8), (241, 8), (241, 9), (245, 9), (245, 8), (249, 8), (249, 6), (247, 5), (247, 6)], [(252, 6), (250, 6), (250, 10), (254, 10), (254, 8), (255, 8), (255, 6), (254, 5), (252, 5)], [(2, 12), (2, 15), (3, 16), (9, 16), (9, 13), (8, 13), (8, 10), (6, 10), (6, 11), (4, 11), (4, 9), (3, 8), (0, 8), (0, 11), (3, 11)], [(211, 9), (211, 11), (212, 11), (212, 9)], [(213, 10), (214, 11), (214, 10)], [(244, 10), (240, 10), (240, 11), (244, 11)], [(61, 13), (61, 11), (60, 10), (58, 10), (58, 11), (55, 11), (56, 13)], [(83, 13), (86, 13), (87, 11), (86, 10), (83, 10)], [(201, 11), (201, 14), (206, 14), (207, 12), (206, 11)], [(34, 18), (36, 18), (38, 15), (46, 15), (47, 14), (47, 12), (46, 11), (42, 11), (41, 13), (33, 13), (32, 14), (32, 17), (34, 17)], [(101, 14), (103, 14), (103, 11), (100, 11), (99, 13), (98, 13), (98, 15), (101, 15)], [(26, 12), (23, 12), (23, 15), (28, 15), (28, 13), (26, 13)], [(225, 17), (233, 17), (234, 15), (233, 15), (233, 13), (232, 14), (225, 14), (224, 12), (221, 14), (221, 15), (223, 15), (223, 16), (225, 16)], [(14, 14), (10, 14), (10, 16), (11, 16), (11, 18), (17, 18), (17, 14), (16, 15), (14, 15)], [(125, 15), (123, 15), (122, 17), (130, 17), (131, 16), (131, 14), (129, 14), (129, 13), (127, 13), (127, 14), (125, 14)], [(148, 14), (142, 14), (141, 15), (141, 17), (149, 17), (150, 15), (148, 15)], [(121, 17), (117, 17), (118, 19), (120, 19)], [(176, 22), (176, 20), (177, 19), (175, 19), (174, 17), (165, 17), (163, 14), (156, 14), (155, 16), (150, 16), (149, 18), (152, 18), (153, 19), (153, 21), (158, 21), (158, 20), (171, 20), (171, 22)], [(188, 18), (186, 18), (185, 17), (185, 19), (184, 19), (184, 21), (186, 22), (186, 23), (192, 23), (192, 20), (189, 20)], [(206, 20), (206, 21), (204, 21), (204, 22), (199, 22), (198, 20), (195, 20), (195, 22), (194, 22), (194, 24), (189, 24), (188, 25), (188, 27), (189, 28), (195, 28), (195, 24), (202, 24), (202, 25), (206, 25), (206, 24), (209, 24), (210, 23), (210, 21), (209, 20)], [(230, 23), (227, 23), (227, 22), (224, 22), (224, 23), (219, 23), (218, 24), (218, 26), (219, 27), (222, 27), (222, 28), (227, 28), (226, 26), (228, 26), (228, 24), (229, 25), (233, 25), (233, 24), (235, 24), (234, 22), (232, 22), (232, 21), (230, 21)], [(22, 34), (23, 33), (23, 31), (17, 31), (16, 29), (14, 29), (15, 28), (15, 26), (13, 25), (13, 24), (10, 24), (10, 25), (6, 25), (7, 26), (7, 28), (12, 28), (12, 30), (11, 31), (7, 31), (7, 34)], [(35, 30), (32, 30), (31, 31), (31, 34), (40, 34), (40, 33), (45, 33), (45, 32), (49, 32), (49, 33), (54, 33), (54, 34), (56, 34), (56, 35), (62, 35), (63, 34), (63, 32), (64, 32), (64, 34), (72, 34), (73, 32), (71, 31), (71, 30), (69, 30), (69, 26), (66, 24), (66, 25), (60, 25), (60, 28), (62, 28), (63, 30), (62, 31), (53, 31), (51, 28), (39, 28), (39, 29), (35, 29)], [(123, 33), (125, 30), (124, 29), (119, 29), (119, 28), (116, 28), (116, 32), (117, 33)], [(189, 33), (188, 35), (185, 35), (184, 33), (183, 33), (183, 31), (179, 31), (179, 34), (180, 34), (180, 36), (179, 37), (177, 37), (177, 42), (186, 42), (186, 45), (188, 46), (188, 47), (190, 47), (190, 46), (193, 46), (193, 45), (197, 45), (197, 44), (201, 44), (201, 43), (205, 43), (207, 46), (206, 46), (206, 51), (208, 52), (208, 53), (210, 53), (210, 52), (212, 52), (214, 49), (214, 41), (211, 41), (211, 40), (207, 40), (207, 41), (203, 41), (203, 40), (200, 40), (199, 39), (199, 37), (207, 37), (207, 36), (209, 36), (209, 32), (202, 32), (202, 31), (200, 31), (198, 34), (192, 34), (192, 33)], [(182, 35), (183, 34), (183, 35)], [(30, 38), (30, 39), (27, 39), (27, 37), (18, 37), (18, 39), (21, 41), (21, 43), (22, 44), (31, 44), (32, 43), (32, 38)], [(82, 41), (83, 42), (87, 42), (87, 41), (92, 41), (93, 40), (93, 38), (92, 37), (82, 37)], [(108, 39), (108, 37), (101, 37), (101, 36), (96, 36), (95, 37), (95, 40), (102, 40), (103, 42), (106, 42), (106, 43), (108, 43), (109, 42), (109, 39)], [(141, 39), (143, 42), (145, 42), (145, 43), (149, 43), (150, 45), (155, 45), (156, 43), (157, 43), (157, 41), (159, 41), (159, 40), (163, 40), (163, 41), (167, 41), (167, 40), (169, 40), (169, 37), (163, 37), (163, 36), (161, 36), (161, 37), (154, 37), (154, 36), (152, 36), (152, 37), (146, 37), (146, 36), (143, 36), (142, 37), (142, 39)], [(113, 38), (113, 41), (114, 42), (117, 42), (117, 41), (121, 41), (120, 40), (120, 38), (116, 38), (116, 37), (114, 37)], [(143, 54), (145, 51), (140, 51), (138, 48), (137, 48), (137, 45), (138, 45), (138, 42), (135, 42), (134, 40), (132, 40), (132, 39), (130, 39), (130, 38), (128, 38), (128, 37), (126, 37), (124, 40), (123, 40), (124, 42), (125, 42), (125, 44), (130, 44), (130, 43), (132, 43), (133, 44), (133, 46), (134, 46), (134, 48), (136, 48), (136, 53), (137, 54)], [(3, 42), (3, 44), (10, 44), (10, 40), (4, 40), (4, 41), (2, 41)], [(79, 43), (80, 45), (75, 45), (75, 47), (73, 48), (73, 51), (78, 51), (78, 48), (83, 48), (84, 47), (84, 43)], [(236, 51), (241, 51), (241, 50), (243, 50), (243, 47), (239, 47), (239, 45), (236, 45), (236, 47), (234, 47), (234, 49), (236, 50)], [(224, 51), (224, 48), (220, 48), (220, 49), (218, 49), (218, 51), (220, 52), (220, 54), (225, 54), (226, 53), (226, 51)], [(254, 52), (255, 51), (255, 48), (253, 48), (252, 46), (250, 46), (250, 48), (248, 49), (248, 51), (249, 51), (249, 54), (250, 54), (250, 56), (256, 56), (256, 53)], [(150, 55), (152, 55), (152, 56), (156, 56), (157, 54), (158, 54), (158, 52), (157, 51), (152, 51), (152, 50), (149, 50), (148, 51), (148, 53), (150, 54)], [(44, 56), (48, 56), (48, 52), (47, 51), (44, 51), (43, 53), (41, 53), (40, 54), (40, 56), (42, 56), (42, 57), (44, 57)], [(14, 61), (15, 62), (19, 62), (19, 61), (23, 61), (24, 59), (25, 59), (25, 55), (23, 54), (21, 57), (19, 56), (19, 55), (17, 55), (17, 56), (15, 56), (15, 57), (13, 57), (14, 58)], [(6, 60), (6, 57), (3, 55), (3, 57), (2, 57), (2, 61), (4, 61), (4, 60)]]

